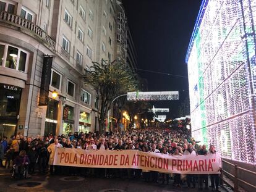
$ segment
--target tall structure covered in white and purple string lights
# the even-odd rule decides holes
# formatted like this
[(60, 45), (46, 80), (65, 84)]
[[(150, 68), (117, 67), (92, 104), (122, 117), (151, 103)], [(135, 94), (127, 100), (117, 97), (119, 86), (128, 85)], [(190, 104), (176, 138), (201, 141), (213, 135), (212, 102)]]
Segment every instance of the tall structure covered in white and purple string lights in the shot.
[(186, 56), (192, 136), (255, 164), (256, 1), (203, 0)]

